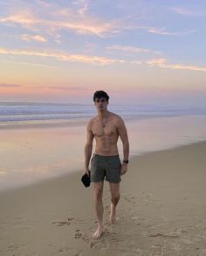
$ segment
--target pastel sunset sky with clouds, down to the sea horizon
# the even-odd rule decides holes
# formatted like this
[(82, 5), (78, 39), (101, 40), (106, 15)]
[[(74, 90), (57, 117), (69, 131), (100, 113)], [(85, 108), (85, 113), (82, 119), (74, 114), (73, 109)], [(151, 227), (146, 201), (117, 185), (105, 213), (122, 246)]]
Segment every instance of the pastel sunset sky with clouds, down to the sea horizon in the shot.
[(206, 106), (205, 0), (0, 0), (0, 101)]

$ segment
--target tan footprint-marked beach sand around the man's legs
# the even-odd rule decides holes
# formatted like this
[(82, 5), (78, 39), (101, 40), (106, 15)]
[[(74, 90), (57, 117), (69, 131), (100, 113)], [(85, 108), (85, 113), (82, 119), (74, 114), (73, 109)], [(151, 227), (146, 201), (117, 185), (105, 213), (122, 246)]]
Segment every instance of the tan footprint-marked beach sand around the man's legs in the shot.
[(81, 173), (0, 194), (0, 255), (206, 255), (206, 142), (130, 161), (118, 220), (98, 240), (93, 188)]

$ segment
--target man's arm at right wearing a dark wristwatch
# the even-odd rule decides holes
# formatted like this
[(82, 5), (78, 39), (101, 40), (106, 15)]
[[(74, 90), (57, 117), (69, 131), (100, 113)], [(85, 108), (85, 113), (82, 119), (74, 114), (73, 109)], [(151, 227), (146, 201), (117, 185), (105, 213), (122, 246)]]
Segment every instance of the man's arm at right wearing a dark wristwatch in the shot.
[(127, 128), (125, 126), (125, 123), (123, 119), (120, 117), (118, 118), (117, 122), (117, 128), (118, 132), (120, 134), (120, 139), (122, 141), (123, 145), (123, 163), (121, 166), (121, 175), (126, 174), (127, 172), (127, 164), (128, 164), (128, 156), (129, 156), (129, 142), (128, 142), (128, 136), (127, 136)]

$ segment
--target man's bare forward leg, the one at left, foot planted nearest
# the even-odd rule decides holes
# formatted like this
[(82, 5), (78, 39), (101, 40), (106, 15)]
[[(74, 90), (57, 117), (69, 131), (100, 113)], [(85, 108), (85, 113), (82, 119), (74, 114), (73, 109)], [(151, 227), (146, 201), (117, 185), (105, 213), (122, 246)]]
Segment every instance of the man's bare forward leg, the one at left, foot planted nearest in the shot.
[(104, 181), (93, 182), (94, 204), (95, 204), (95, 210), (96, 210), (97, 221), (98, 221), (97, 231), (93, 233), (94, 239), (100, 238), (103, 232), (103, 212), (104, 212), (103, 203), (102, 203), (103, 185), (104, 185)]

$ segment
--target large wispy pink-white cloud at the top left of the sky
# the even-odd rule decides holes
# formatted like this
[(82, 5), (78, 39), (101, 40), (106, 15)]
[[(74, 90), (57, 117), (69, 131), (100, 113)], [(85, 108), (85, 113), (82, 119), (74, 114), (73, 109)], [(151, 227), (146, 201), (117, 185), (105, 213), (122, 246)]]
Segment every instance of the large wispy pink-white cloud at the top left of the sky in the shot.
[(9, 26), (20, 25), (30, 29), (31, 32), (49, 32), (52, 34), (52, 32), (56, 33), (60, 30), (71, 30), (80, 34), (94, 34), (99, 37), (105, 37), (108, 33), (115, 33), (120, 29), (116, 21), (108, 22), (92, 15), (86, 15), (88, 4), (85, 1), (79, 2), (84, 5), (78, 10), (72, 10), (68, 7), (62, 9), (55, 4), (49, 6), (41, 4), (43, 8), (41, 11), (44, 13), (45, 9), (46, 13), (50, 13), (46, 16), (41, 15), (42, 17), (33, 11), (37, 9), (37, 6), (36, 8), (34, 6), (33, 10), (25, 7), (24, 10), (15, 10), (0, 18), (0, 23)]

